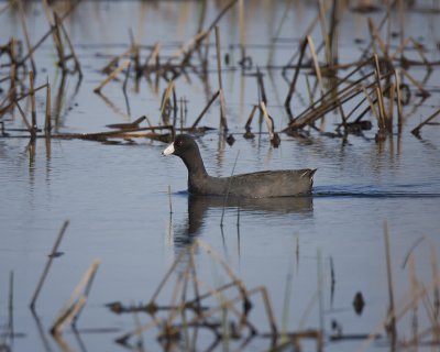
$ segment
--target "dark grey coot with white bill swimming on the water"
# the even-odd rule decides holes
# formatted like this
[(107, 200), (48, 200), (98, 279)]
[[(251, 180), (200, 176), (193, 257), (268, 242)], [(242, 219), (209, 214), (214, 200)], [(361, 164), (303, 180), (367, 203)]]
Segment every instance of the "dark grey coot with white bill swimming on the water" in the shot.
[(230, 195), (267, 198), (309, 195), (316, 169), (268, 170), (230, 177), (209, 176), (195, 140), (177, 135), (162, 152), (179, 156), (188, 169), (188, 191), (193, 195)]

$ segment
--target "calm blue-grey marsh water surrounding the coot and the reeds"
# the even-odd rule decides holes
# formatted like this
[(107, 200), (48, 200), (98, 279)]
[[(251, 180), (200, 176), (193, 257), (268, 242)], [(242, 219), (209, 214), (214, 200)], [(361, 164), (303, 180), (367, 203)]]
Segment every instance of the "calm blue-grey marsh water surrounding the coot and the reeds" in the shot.
[[(207, 23), (216, 18), (223, 2), (208, 3)], [(248, 55), (254, 68), (262, 67), (268, 109), (276, 130), (282, 130), (288, 122), (283, 107), (288, 82), (280, 70), (265, 67), (287, 63), (317, 9), (308, 2), (295, 1), (245, 3)], [(55, 6), (63, 11), (67, 4)], [(422, 8), (425, 2), (418, 6)], [(128, 99), (120, 81), (106, 86), (103, 97), (92, 90), (105, 78), (100, 70), (111, 56), (128, 48), (130, 31), (138, 43), (147, 46), (160, 42), (164, 55), (170, 55), (197, 33), (199, 12), (198, 1), (81, 2), (65, 24), (81, 62), (82, 81), (77, 85), (75, 76), (66, 76), (62, 81), (54, 67), (55, 54), (50, 41), (35, 52), (36, 82), (48, 79), (54, 96), (64, 86), (61, 109), (55, 112), (55, 130), (100, 132), (107, 130), (107, 124), (131, 122), (143, 114), (153, 124), (157, 123), (166, 82), (160, 82), (156, 90), (144, 80), (136, 91), (130, 81)], [(25, 7), (25, 13), (31, 37), (36, 41), (47, 31), (44, 12), (38, 3), (32, 2)], [(2, 43), (10, 36), (22, 35), (16, 12), (0, 16)], [(63, 349), (46, 332), (91, 262), (100, 258), (87, 305), (77, 322), (80, 339), (69, 329), (64, 339), (72, 351), (122, 351), (114, 339), (134, 329), (138, 318), (114, 315), (105, 305), (147, 302), (174, 260), (196, 239), (224, 257), (248, 287), (267, 287), (279, 324), (286, 301), (289, 331), (322, 324), (327, 333), (326, 351), (353, 351), (362, 343), (353, 339), (330, 341), (328, 337), (334, 332), (336, 323), (344, 334), (369, 334), (386, 317), (389, 300), (384, 223), (389, 231), (397, 305), (410, 292), (406, 261), (409, 252), (415, 260), (417, 280), (431, 280), (431, 249), (437, 254), (440, 249), (440, 128), (424, 127), (420, 139), (410, 130), (440, 107), (438, 67), (433, 67), (426, 84), (431, 97), (421, 101), (413, 95), (413, 105), (406, 107), (411, 113), (407, 114), (399, 135), (376, 143), (376, 122), (372, 116), (374, 128), (363, 135), (349, 135), (346, 141), (310, 131), (307, 138), (280, 134), (280, 145), (273, 147), (266, 133), (253, 140), (242, 138), (258, 94), (255, 76), (243, 74), (237, 64), (237, 16), (232, 9), (219, 23), (222, 53), (229, 54), (222, 78), (229, 133), (233, 133), (235, 142), (229, 145), (218, 130), (198, 136), (207, 170), (228, 176), (232, 172), (318, 168), (312, 196), (239, 204), (190, 197), (186, 193), (186, 168), (182, 161), (161, 156), (166, 144), (150, 139), (121, 140), (118, 144), (37, 139), (32, 145), (28, 138), (1, 138), (0, 331), (7, 331), (10, 317), (9, 283), (13, 272), (14, 338), (8, 338), (11, 350)], [(438, 61), (439, 14), (419, 9), (408, 10), (406, 16), (406, 31), (424, 42), (430, 61)], [(340, 35), (341, 62), (344, 57), (354, 61), (362, 51), (355, 40), (369, 38), (366, 15), (346, 12)], [(274, 41), (274, 36), (278, 40)], [(213, 50), (210, 55), (215, 63)], [(416, 67), (411, 73), (421, 79), (425, 69)], [(1, 87), (4, 95), (7, 88)], [(308, 105), (305, 80), (300, 87), (299, 98), (293, 103), (296, 111)], [(206, 81), (191, 74), (176, 80), (177, 96), (187, 100), (188, 124), (216, 90), (215, 69)], [(38, 99), (42, 125), (44, 98)], [(23, 128), (16, 116), (8, 117), (7, 121), (9, 128)], [(338, 116), (329, 114), (326, 120), (330, 130), (339, 122)], [(217, 103), (201, 124), (218, 128)], [(262, 129), (265, 132), (264, 125)], [(253, 131), (257, 130), (255, 122)], [(65, 220), (69, 220), (69, 226), (59, 248), (62, 255), (54, 261), (36, 304), (43, 327), (38, 330), (41, 326), (36, 324), (29, 302)], [(201, 251), (196, 251), (196, 265), (200, 275), (213, 277), (217, 283), (226, 279)], [(353, 309), (356, 293), (362, 293), (365, 300), (362, 314)], [(164, 297), (163, 302), (167, 304), (167, 299)], [(256, 315), (264, 326), (264, 314)], [(147, 320), (143, 316), (139, 319)], [(426, 321), (420, 314), (420, 329)], [(410, 319), (403, 319), (399, 329), (402, 336), (409, 337)], [(385, 332), (380, 332), (384, 338)], [(389, 349), (384, 341), (385, 338), (372, 341), (367, 349)], [(267, 341), (257, 340), (248, 348), (263, 350), (267, 345)], [(145, 341), (145, 350), (158, 348), (155, 338)], [(309, 349), (314, 350), (315, 344)]]

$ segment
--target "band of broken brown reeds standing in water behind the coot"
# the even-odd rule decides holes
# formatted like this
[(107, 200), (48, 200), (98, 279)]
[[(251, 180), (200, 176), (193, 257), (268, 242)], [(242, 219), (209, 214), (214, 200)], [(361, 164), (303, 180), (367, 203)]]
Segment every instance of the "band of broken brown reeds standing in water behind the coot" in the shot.
[[(161, 50), (163, 43), (156, 42), (150, 47), (145, 47), (138, 43), (134, 36), (130, 35), (131, 44), (128, 50), (109, 59), (102, 67), (101, 72), (105, 78), (98, 84), (94, 91), (106, 102), (112, 106), (111, 101), (103, 95), (106, 86), (112, 81), (121, 84), (122, 91), (125, 96), (128, 111), (130, 106), (128, 102), (128, 84), (133, 80), (134, 91), (139, 91), (140, 81), (145, 79), (154, 89), (158, 89), (158, 82), (165, 81), (166, 88), (163, 91), (160, 107), (160, 117), (157, 123), (152, 123), (146, 117), (148, 125), (146, 128), (133, 124), (119, 129), (117, 131), (102, 131), (99, 133), (52, 133), (51, 107), (51, 87), (48, 82), (38, 87), (34, 87), (34, 75), (36, 64), (33, 53), (50, 36), (57, 53), (57, 65), (62, 69), (63, 75), (78, 75), (78, 85), (82, 77), (82, 70), (79, 58), (74, 51), (69, 35), (63, 24), (63, 21), (75, 10), (77, 2), (73, 2), (70, 9), (63, 14), (57, 13), (43, 1), (44, 13), (50, 25), (50, 31), (36, 44), (32, 45), (26, 30), (25, 16), (23, 14), (22, 3), (14, 0), (6, 4), (2, 11), (8, 11), (16, 4), (21, 13), (23, 33), (25, 33), (24, 43), (28, 48), (23, 52), (23, 44), (18, 38), (11, 38), (9, 43), (2, 45), (0, 55), (9, 58), (8, 64), (3, 64), (2, 68), (8, 67), (9, 74), (0, 78), (1, 82), (9, 81), (9, 90), (3, 101), (0, 102), (0, 122), (2, 124), (2, 136), (22, 136), (12, 135), (4, 127), (3, 118), (7, 113), (11, 113), (13, 109), (18, 109), (25, 125), (25, 131), (31, 134), (32, 139), (43, 136), (38, 129), (35, 112), (34, 96), (35, 92), (45, 88), (46, 91), (46, 113), (44, 123), (44, 135), (57, 139), (86, 139), (96, 141), (108, 141), (114, 139), (133, 139), (133, 138), (152, 138), (162, 141), (169, 141), (176, 131), (204, 133), (207, 130), (215, 129), (212, 127), (199, 127), (205, 113), (211, 108), (216, 100), (219, 101), (219, 127), (228, 135), (228, 110), (227, 97), (222, 85), (223, 67), (222, 57), (229, 64), (229, 56), (221, 53), (221, 34), (219, 23), (221, 19), (232, 9), (239, 12), (240, 28), (240, 50), (241, 58), (238, 66), (228, 66), (228, 69), (239, 69), (242, 75), (254, 75), (258, 87), (258, 97), (252, 106), (249, 119), (243, 127), (246, 139), (254, 136), (252, 132), (252, 122), (255, 112), (260, 113), (260, 122), (265, 121), (271, 142), (274, 146), (280, 143), (280, 133), (292, 136), (304, 136), (316, 131), (322, 135), (331, 138), (346, 139), (348, 134), (362, 134), (365, 130), (371, 130), (376, 125), (377, 130), (375, 139), (377, 142), (384, 141), (393, 133), (402, 134), (403, 125), (413, 112), (406, 112), (405, 107), (414, 103), (415, 97), (411, 92), (416, 91), (416, 97), (421, 100), (417, 105), (430, 96), (429, 89), (425, 87), (430, 74), (438, 67), (439, 62), (430, 62), (426, 56), (424, 44), (405, 31), (405, 11), (407, 4), (403, 0), (388, 0), (384, 8), (384, 15), (381, 21), (375, 22), (369, 16), (369, 11), (377, 10), (369, 7), (348, 8), (342, 1), (332, 1), (331, 3), (317, 0), (317, 15), (307, 28), (306, 32), (299, 37), (299, 45), (292, 58), (283, 66), (274, 66), (270, 62), (266, 67), (254, 67), (253, 59), (246, 51), (245, 43), (245, 7), (242, 0), (231, 0), (224, 2), (223, 8), (219, 11), (217, 18), (204, 25), (206, 7), (204, 2), (200, 25), (197, 33), (185, 43), (182, 43), (175, 53), (166, 55)], [(339, 53), (339, 36), (341, 19), (348, 11), (358, 11), (366, 13), (366, 22), (369, 29), (369, 40), (364, 45), (359, 58), (340, 63), (341, 54)], [(393, 12), (398, 12), (398, 23), (392, 23)], [(329, 21), (330, 20), (330, 21)], [(398, 31), (392, 32), (392, 24), (398, 28)], [(279, 23), (282, 28), (283, 22)], [(320, 34), (320, 42), (315, 43), (312, 37)], [(213, 38), (213, 40), (212, 40)], [(396, 44), (398, 38), (398, 44)], [(213, 43), (212, 43), (213, 41)], [(273, 38), (274, 42), (277, 37)], [(211, 63), (210, 50), (216, 48), (215, 63)], [(408, 58), (407, 53), (411, 53)], [(416, 57), (414, 57), (416, 55)], [(271, 55), (272, 57), (273, 55)], [(31, 67), (31, 69), (30, 69)], [(215, 68), (213, 68), (215, 67)], [(426, 77), (422, 81), (416, 79), (410, 73), (411, 67), (425, 67)], [(190, 79), (190, 75), (196, 75), (202, 80), (208, 79), (208, 75), (212, 69), (217, 70), (218, 89), (211, 97), (208, 97), (208, 103), (197, 116), (195, 121), (187, 127), (186, 113), (187, 105), (184, 95), (180, 97), (176, 91), (175, 82), (178, 79)], [(264, 87), (265, 73), (280, 74), (288, 82), (285, 91), (284, 107), (285, 114), (288, 117), (286, 125), (275, 127), (274, 119), (271, 116), (271, 102), (267, 101), (267, 95)], [(302, 79), (304, 78), (304, 79)], [(298, 111), (293, 107), (293, 101), (298, 95), (299, 80), (306, 80), (308, 100), (307, 108)], [(23, 92), (19, 94), (19, 87)], [(29, 112), (24, 111), (20, 101), (24, 98), (31, 101), (31, 118)], [(56, 100), (62, 99), (57, 98)], [(59, 107), (59, 103), (57, 105)], [(114, 110), (118, 110), (112, 106)], [(180, 112), (180, 123), (178, 123)], [(411, 133), (420, 138), (420, 131), (424, 127), (429, 125), (435, 118), (438, 117), (440, 110), (435, 111), (431, 116), (424, 119), (416, 125)], [(185, 116), (184, 116), (185, 114)], [(191, 116), (195, 113), (191, 112)], [(329, 114), (339, 116), (340, 122), (337, 123), (334, 130), (329, 130), (326, 125), (326, 117)], [(373, 122), (371, 121), (373, 118)], [(32, 120), (32, 121), (29, 121)], [(375, 122), (375, 123), (374, 123)], [(261, 130), (257, 133), (263, 133)]]

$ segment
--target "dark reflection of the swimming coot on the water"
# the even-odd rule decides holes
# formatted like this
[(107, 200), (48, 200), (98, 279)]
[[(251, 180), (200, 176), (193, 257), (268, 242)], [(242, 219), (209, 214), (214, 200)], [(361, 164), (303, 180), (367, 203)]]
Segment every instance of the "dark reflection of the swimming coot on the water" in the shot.
[(175, 232), (176, 246), (187, 246), (199, 233), (209, 210), (221, 210), (223, 207), (240, 208), (242, 211), (254, 211), (266, 215), (311, 215), (312, 197), (278, 198), (240, 198), (220, 196), (188, 196), (188, 227)]

